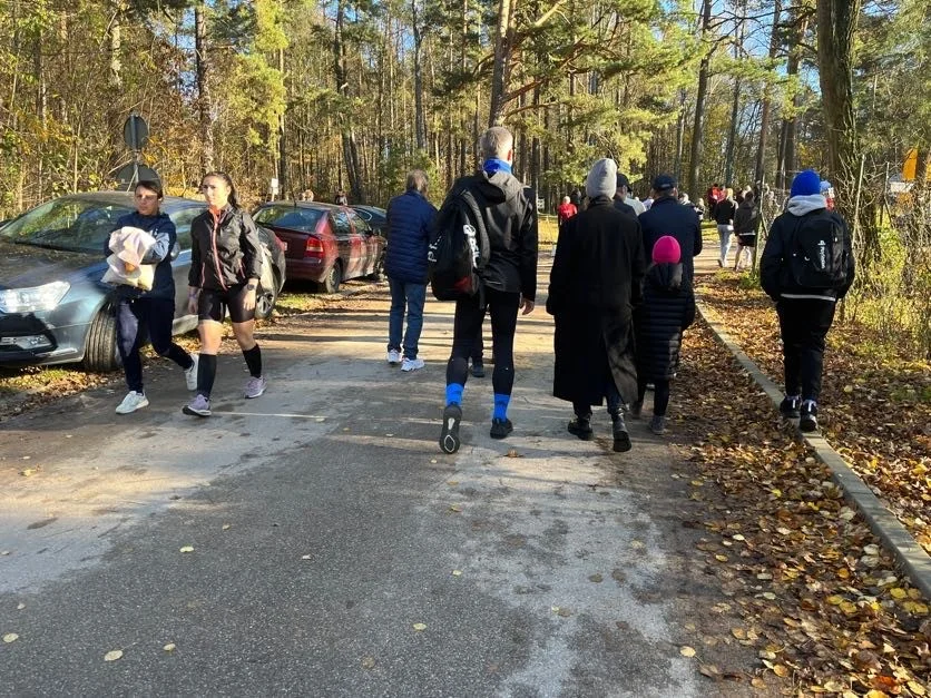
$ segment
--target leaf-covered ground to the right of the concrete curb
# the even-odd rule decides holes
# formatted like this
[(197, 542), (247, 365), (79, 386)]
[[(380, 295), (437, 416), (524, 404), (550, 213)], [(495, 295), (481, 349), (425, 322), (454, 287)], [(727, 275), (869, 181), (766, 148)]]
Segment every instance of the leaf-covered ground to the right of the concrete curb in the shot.
[[(735, 274), (707, 276), (702, 302), (777, 385), (782, 350), (772, 302)], [(931, 363), (879, 345), (835, 319), (827, 335), (819, 422), (824, 436), (931, 553)]]

